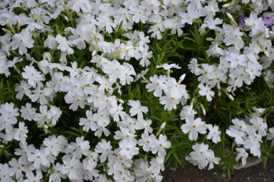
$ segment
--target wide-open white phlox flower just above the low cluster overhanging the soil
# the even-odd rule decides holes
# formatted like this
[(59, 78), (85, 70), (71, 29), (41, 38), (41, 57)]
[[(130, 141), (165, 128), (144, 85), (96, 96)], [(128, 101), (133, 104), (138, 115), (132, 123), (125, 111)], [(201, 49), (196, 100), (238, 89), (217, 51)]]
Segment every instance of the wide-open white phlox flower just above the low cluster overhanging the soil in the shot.
[(181, 130), (184, 133), (189, 132), (189, 140), (196, 140), (198, 137), (198, 133), (206, 134), (206, 123), (201, 120), (201, 118), (196, 118), (191, 115), (186, 116), (186, 124), (181, 125)]

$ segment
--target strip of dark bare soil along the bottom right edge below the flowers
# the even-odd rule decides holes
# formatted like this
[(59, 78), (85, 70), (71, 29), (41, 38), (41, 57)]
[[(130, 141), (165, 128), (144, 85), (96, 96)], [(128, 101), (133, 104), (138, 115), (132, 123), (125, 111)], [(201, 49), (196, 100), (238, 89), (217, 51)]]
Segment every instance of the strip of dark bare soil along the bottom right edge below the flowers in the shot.
[(163, 182), (274, 182), (274, 159), (269, 159), (266, 169), (263, 164), (255, 164), (248, 168), (234, 169), (231, 179), (227, 172), (221, 169), (200, 170), (198, 166), (186, 164), (176, 170), (170, 168), (164, 171)]

